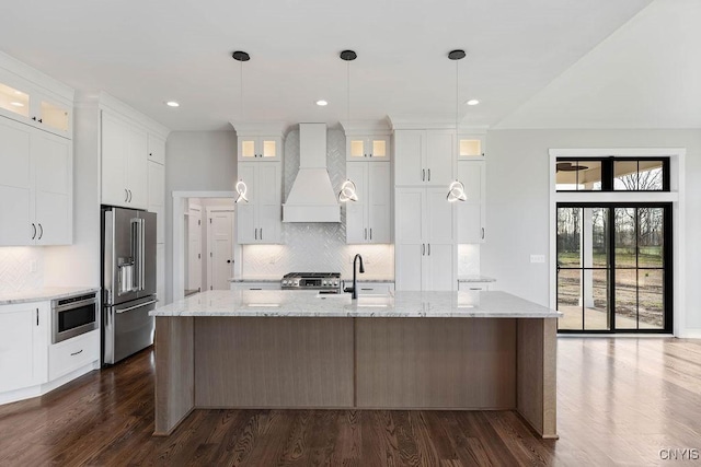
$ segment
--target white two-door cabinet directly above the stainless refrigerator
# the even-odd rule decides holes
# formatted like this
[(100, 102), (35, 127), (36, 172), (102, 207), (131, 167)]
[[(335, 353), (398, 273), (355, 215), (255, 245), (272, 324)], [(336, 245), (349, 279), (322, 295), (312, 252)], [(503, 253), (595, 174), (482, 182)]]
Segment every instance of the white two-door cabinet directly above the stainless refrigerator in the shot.
[(102, 113), (102, 203), (148, 208), (147, 132)]

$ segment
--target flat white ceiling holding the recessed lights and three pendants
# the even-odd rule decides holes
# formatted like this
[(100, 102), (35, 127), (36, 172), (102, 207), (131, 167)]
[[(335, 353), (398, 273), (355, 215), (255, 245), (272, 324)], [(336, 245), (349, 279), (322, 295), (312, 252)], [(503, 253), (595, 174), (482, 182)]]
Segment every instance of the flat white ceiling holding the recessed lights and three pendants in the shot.
[[(651, 93), (651, 86), (676, 95), (666, 110), (683, 102), (680, 91), (698, 92), (698, 67), (682, 70), (697, 72), (690, 84), (679, 70), (655, 65), (651, 72), (646, 60), (653, 54), (663, 66), (677, 63), (685, 50), (669, 47), (699, 44), (698, 33), (686, 30), (700, 24), (687, 16), (687, 10), (698, 13), (694, 2), (655, 0), (625, 24), (651, 0), (27, 0), (0, 15), (0, 49), (78, 91), (106, 91), (172, 130), (228, 129), (231, 120), (346, 119), (347, 69), (338, 58), (345, 48), (358, 54), (349, 66), (353, 120), (452, 118), (456, 65), (447, 52), (463, 48), (460, 101), (482, 101), (460, 106), (463, 125), (552, 126), (571, 113), (564, 103), (581, 107), (581, 121), (606, 115), (602, 125), (616, 126), (630, 115), (596, 107), (590, 94), (597, 93), (585, 92), (593, 79), (595, 91), (619, 98), (609, 106), (632, 106), (628, 114), (635, 115), (650, 112), (635, 106), (635, 93)], [(674, 27), (677, 21), (683, 27)], [(597, 59), (610, 43), (614, 50)], [(243, 65), (243, 109), (241, 69), (231, 58), (238, 49), (252, 57)], [(630, 90), (631, 71), (635, 80), (646, 77), (645, 84), (621, 97), (617, 90)], [(699, 94), (692, 95), (697, 104)], [(315, 106), (319, 98), (330, 105)], [(181, 107), (166, 107), (168, 100)], [(699, 105), (696, 110), (698, 122)], [(658, 119), (667, 117), (658, 125), (690, 126), (674, 113)]]

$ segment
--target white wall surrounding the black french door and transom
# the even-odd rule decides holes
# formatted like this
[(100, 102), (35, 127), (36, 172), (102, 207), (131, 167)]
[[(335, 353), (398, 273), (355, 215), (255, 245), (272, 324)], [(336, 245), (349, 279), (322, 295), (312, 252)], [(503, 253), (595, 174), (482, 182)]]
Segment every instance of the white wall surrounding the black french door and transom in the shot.
[[(686, 148), (686, 327), (701, 337), (700, 130), (492, 130), (487, 133), (486, 226), (481, 272), (501, 290), (548, 305), (551, 148)], [(545, 264), (530, 264), (530, 254)]]

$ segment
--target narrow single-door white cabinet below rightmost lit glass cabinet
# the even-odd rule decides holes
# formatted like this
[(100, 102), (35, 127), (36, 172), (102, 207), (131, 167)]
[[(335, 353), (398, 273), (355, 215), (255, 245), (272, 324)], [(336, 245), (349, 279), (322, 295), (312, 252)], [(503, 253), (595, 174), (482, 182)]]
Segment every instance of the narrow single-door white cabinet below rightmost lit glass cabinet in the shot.
[(458, 179), (467, 200), (456, 201), (458, 243), (484, 243), (486, 238), (484, 161), (458, 161)]

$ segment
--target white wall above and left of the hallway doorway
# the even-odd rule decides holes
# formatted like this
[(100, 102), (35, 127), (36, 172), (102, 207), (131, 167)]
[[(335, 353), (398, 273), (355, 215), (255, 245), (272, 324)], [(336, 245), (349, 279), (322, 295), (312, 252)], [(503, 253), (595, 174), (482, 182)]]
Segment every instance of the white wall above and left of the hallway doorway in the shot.
[[(173, 297), (173, 191), (230, 191), (237, 177), (231, 131), (173, 131), (165, 143), (165, 296)], [(182, 222), (179, 220), (179, 222)]]

